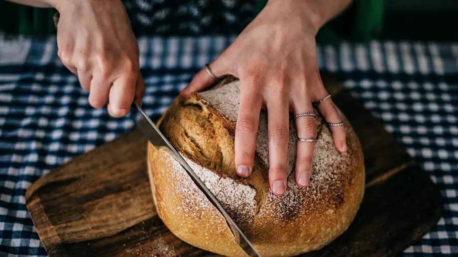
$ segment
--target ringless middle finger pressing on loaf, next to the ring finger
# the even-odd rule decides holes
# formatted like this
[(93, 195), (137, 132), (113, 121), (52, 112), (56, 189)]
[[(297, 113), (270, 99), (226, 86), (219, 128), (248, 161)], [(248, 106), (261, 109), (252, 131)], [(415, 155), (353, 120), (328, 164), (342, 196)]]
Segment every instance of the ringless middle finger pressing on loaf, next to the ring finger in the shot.
[(269, 184), (275, 195), (286, 191), (286, 163), (289, 138), (289, 106), (281, 93), (266, 100), (269, 134)]

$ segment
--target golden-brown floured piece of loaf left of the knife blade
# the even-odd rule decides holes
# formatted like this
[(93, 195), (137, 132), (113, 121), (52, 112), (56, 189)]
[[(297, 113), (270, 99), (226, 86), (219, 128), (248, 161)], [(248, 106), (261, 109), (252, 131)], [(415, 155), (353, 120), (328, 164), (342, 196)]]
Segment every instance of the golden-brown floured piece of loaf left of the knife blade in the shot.
[(199, 197), (197, 186), (190, 189), (194, 193), (189, 194), (170, 186), (181, 182), (176, 173), (184, 177), (186, 171), (170, 172), (171, 163), (176, 161), (163, 149), (156, 149), (150, 143), (147, 155), (148, 173), (154, 179), (154, 203), (167, 228), (181, 240), (201, 249), (215, 251), (216, 248), (222, 255), (244, 256), (237, 248), (223, 216), (213, 206), (210, 208), (210, 201)]

